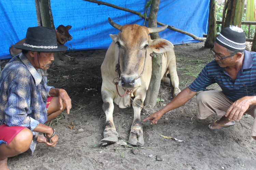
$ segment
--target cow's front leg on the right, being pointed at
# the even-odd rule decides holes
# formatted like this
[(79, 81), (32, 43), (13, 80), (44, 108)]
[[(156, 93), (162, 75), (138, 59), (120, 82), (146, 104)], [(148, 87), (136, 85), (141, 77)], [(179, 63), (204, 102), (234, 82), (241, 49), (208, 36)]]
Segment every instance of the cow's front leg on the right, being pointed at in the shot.
[[(141, 95), (137, 95), (136, 98), (132, 102), (132, 107), (134, 110), (134, 118), (131, 125), (131, 132), (129, 135), (128, 142), (132, 145), (143, 146), (144, 138), (143, 138), (143, 128), (140, 119), (140, 112), (143, 107), (143, 101), (146, 97), (146, 90), (143, 90)], [(142, 106), (142, 107), (141, 107)]]

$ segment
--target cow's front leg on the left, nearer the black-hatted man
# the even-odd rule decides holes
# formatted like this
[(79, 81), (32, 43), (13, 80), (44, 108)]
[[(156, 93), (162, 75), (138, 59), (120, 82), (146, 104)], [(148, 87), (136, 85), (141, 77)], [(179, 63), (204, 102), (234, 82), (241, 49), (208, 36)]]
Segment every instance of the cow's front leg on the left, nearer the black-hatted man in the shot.
[(114, 96), (108, 90), (105, 89), (101, 89), (101, 95), (102, 100), (104, 102), (102, 105), (102, 109), (106, 115), (106, 124), (103, 132), (104, 138), (100, 140), (100, 143), (115, 143), (118, 141), (118, 133), (116, 132), (116, 128), (113, 121)]

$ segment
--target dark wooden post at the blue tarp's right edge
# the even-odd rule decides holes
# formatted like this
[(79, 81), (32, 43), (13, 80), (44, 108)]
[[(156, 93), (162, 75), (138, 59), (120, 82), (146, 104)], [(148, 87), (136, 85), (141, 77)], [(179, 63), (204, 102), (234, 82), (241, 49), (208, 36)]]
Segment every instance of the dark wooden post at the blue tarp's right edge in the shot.
[(210, 1), (209, 19), (208, 19), (208, 33), (204, 43), (204, 47), (212, 48), (216, 39), (216, 1)]

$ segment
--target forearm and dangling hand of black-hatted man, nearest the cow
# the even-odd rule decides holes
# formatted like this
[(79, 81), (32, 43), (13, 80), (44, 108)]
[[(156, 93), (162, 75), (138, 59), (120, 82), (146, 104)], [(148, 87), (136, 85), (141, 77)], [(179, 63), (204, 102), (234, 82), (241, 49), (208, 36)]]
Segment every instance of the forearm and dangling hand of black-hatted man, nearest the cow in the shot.
[(50, 96), (58, 96), (59, 97), (59, 105), (60, 105), (60, 110), (62, 110), (62, 102), (66, 104), (67, 108), (67, 113), (69, 114), (69, 111), (72, 107), (71, 105), (71, 99), (69, 98), (69, 95), (66, 90), (60, 89), (60, 88), (51, 88), (49, 91)]

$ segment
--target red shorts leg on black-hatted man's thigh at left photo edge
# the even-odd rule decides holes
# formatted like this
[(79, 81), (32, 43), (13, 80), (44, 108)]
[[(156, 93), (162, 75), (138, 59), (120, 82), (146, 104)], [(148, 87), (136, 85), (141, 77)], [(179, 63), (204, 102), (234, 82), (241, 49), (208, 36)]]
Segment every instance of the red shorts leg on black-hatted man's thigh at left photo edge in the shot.
[(22, 126), (7, 126), (3, 124), (0, 126), (0, 145), (6, 143), (7, 145), (15, 138), (15, 136), (26, 127)]

